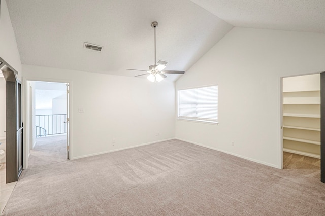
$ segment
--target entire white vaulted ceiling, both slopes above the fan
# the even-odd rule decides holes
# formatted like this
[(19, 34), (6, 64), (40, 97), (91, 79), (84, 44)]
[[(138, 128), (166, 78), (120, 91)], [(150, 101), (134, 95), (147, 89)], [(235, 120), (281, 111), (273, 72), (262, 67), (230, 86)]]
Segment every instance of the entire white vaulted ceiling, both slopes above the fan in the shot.
[[(168, 70), (186, 71), (233, 26), (325, 33), (323, 0), (6, 2), (22, 64), (121, 76), (154, 63), (152, 21), (157, 60), (168, 61)], [(103, 49), (84, 49), (84, 42)]]

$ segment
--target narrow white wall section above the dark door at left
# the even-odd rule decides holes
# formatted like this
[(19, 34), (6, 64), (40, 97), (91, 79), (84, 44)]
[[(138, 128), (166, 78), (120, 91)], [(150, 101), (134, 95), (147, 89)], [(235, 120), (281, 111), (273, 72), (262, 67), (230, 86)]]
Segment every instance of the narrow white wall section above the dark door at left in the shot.
[(1, 0), (0, 10), (0, 57), (18, 71), (21, 80), (21, 61), (5, 0)]

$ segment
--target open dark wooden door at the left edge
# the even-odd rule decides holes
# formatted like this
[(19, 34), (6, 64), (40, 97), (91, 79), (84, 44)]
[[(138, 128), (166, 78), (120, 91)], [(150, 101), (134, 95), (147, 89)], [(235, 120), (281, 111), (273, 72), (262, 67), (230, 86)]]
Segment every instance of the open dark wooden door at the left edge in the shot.
[(23, 170), (22, 88), (17, 72), (3, 59), (0, 62), (6, 80), (6, 183), (10, 183), (17, 181)]

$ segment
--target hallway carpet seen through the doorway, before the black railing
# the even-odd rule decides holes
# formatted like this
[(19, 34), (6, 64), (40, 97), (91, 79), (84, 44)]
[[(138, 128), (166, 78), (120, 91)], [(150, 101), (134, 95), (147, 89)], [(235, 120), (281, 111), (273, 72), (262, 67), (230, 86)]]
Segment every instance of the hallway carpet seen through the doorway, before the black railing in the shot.
[(36, 138), (34, 149), (30, 150), (28, 165), (41, 166), (67, 160), (67, 135)]

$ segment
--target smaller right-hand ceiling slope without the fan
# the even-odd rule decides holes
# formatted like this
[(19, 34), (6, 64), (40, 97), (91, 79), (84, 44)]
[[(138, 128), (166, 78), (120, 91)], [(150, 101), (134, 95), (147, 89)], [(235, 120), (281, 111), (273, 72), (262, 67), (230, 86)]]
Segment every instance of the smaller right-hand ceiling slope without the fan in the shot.
[(325, 33), (325, 0), (191, 0), (233, 26)]

